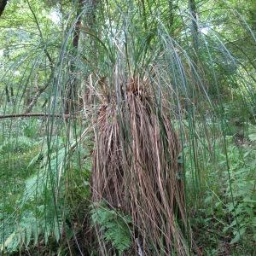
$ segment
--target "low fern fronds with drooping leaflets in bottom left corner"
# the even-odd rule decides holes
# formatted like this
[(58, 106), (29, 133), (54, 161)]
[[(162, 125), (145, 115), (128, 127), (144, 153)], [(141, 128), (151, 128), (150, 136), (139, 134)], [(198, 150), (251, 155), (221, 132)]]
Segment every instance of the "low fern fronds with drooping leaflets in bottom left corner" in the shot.
[[(37, 206), (33, 207), (33, 204)], [(9, 222), (4, 224), (1, 252), (13, 253), (28, 245), (37, 246), (39, 239), (43, 239), (44, 244), (48, 244), (49, 237), (54, 237), (55, 241), (60, 240), (62, 219), (61, 216), (55, 218), (53, 204), (39, 205), (37, 201), (27, 201), (26, 205), (18, 205), (16, 202), (16, 206), (19, 207), (20, 215), (10, 218)], [(10, 213), (2, 206), (1, 211), (5, 214)], [(0, 218), (3, 216), (1, 214)]]

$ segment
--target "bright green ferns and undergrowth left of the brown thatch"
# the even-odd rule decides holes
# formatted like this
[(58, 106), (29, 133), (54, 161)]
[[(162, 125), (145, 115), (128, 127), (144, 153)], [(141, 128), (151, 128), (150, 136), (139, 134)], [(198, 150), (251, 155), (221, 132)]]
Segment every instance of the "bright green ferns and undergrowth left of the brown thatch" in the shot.
[[(64, 147), (66, 139), (55, 136), (49, 148), (44, 143), (45, 138), (38, 137), (38, 124), (39, 121), (26, 123), (17, 120), (12, 124), (15, 129), (10, 131), (9, 137), (3, 138), (0, 175), (5, 178), (0, 187), (3, 198), (0, 204), (1, 253), (23, 251), (28, 246), (32, 249), (39, 242), (44, 242), (44, 245), (48, 245), (49, 241), (59, 242), (64, 229), (66, 234), (73, 234), (66, 224), (66, 219), (70, 218), (69, 211), (73, 209), (64, 207), (67, 196), (62, 188), (62, 181), (68, 173), (67, 167), (63, 165), (67, 159)], [(18, 136), (16, 131), (23, 132)], [(79, 154), (86, 152), (80, 148)], [(68, 157), (76, 160), (68, 169), (75, 174), (76, 189), (84, 186), (84, 179), (88, 181), (90, 177), (90, 161), (79, 161), (79, 166), (86, 168), (86, 173), (78, 175), (79, 154), (68, 154)], [(84, 188), (88, 190), (88, 184)], [(68, 189), (67, 193), (70, 192), (71, 189)], [(73, 193), (73, 197), (78, 198), (78, 195), (84, 194), (84, 189)]]

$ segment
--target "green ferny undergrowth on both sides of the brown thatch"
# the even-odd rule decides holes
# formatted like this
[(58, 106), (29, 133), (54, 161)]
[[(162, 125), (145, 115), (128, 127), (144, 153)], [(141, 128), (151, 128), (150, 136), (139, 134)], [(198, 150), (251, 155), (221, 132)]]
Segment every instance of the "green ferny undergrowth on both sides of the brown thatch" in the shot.
[[(75, 247), (75, 239), (81, 239), (82, 235), (86, 240), (90, 227), (99, 228), (97, 236), (109, 245), (109, 250), (122, 255), (131, 249), (131, 217), (106, 204), (90, 202), (90, 152), (80, 148), (79, 154), (73, 154), (73, 164), (65, 172), (67, 190), (59, 197), (62, 200), (59, 205), (63, 208), (56, 208), (52, 187), (45, 180), (47, 155), (38, 140), (38, 129), (34, 129), (34, 133), (28, 132), (23, 121), (16, 125), (23, 127), (23, 133), (15, 137), (13, 134), (8, 140), (3, 137), (0, 148), (3, 181), (0, 188), (3, 198), (0, 204), (1, 251), (4, 249), (8, 254), (26, 253), (26, 250), (31, 253), (51, 252), (52, 255), (67, 253), (68, 243)], [(221, 149), (224, 148), (224, 138), (218, 134), (212, 151), (206, 150), (207, 142), (201, 140), (198, 150), (204, 154), (196, 158), (200, 180), (190, 172), (195, 159), (188, 148), (184, 148), (188, 189), (196, 190), (196, 184), (200, 183), (197, 193), (188, 194), (188, 209), (202, 255), (255, 253), (256, 139), (255, 125), (248, 127), (242, 141), (237, 141), (236, 133), (225, 137), (226, 153)], [(53, 170), (56, 158), (58, 163), (65, 158), (61, 151), (65, 138), (59, 137), (59, 141), (60, 148), (55, 148), (57, 150), (51, 155)], [(80, 158), (81, 154), (85, 157)], [(4, 199), (7, 197), (8, 201)]]

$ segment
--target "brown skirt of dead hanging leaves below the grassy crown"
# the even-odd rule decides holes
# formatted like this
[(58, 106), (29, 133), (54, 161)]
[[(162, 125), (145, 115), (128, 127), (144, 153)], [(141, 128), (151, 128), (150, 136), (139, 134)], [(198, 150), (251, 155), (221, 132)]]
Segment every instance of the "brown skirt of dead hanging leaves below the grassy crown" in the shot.
[(106, 200), (131, 214), (137, 253), (187, 255), (180, 146), (172, 120), (157, 106), (150, 84), (131, 79), (125, 88), (119, 106), (115, 99), (98, 113), (93, 201)]

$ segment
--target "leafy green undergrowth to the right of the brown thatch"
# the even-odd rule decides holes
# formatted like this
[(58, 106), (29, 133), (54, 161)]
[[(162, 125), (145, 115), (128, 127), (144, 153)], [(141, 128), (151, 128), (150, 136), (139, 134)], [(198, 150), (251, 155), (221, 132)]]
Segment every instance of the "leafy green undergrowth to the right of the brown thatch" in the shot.
[(236, 145), (231, 136), (226, 143), (227, 155), (218, 139), (215, 164), (209, 161), (204, 165), (201, 198), (190, 196), (191, 207), (193, 200), (198, 204), (192, 207), (191, 224), (205, 252), (222, 253), (228, 248), (231, 255), (248, 255), (253, 253), (256, 239), (256, 148), (246, 142)]

